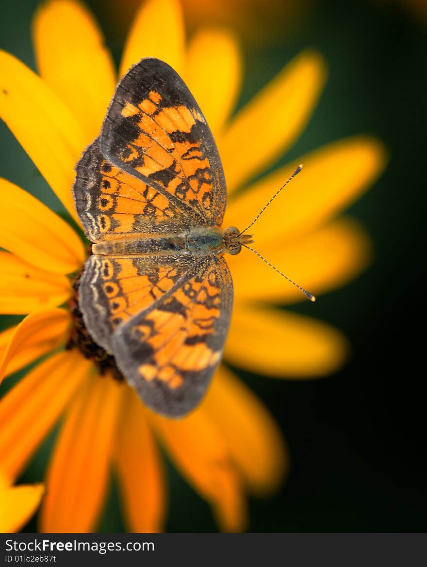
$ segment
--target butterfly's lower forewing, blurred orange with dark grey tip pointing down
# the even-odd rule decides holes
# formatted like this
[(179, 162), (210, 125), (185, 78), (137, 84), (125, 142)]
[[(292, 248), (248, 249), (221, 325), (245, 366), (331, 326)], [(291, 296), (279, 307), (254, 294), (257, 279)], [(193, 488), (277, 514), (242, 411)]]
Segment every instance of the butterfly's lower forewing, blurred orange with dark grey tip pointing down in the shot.
[(194, 264), (149, 308), (112, 336), (119, 369), (154, 411), (188, 413), (207, 390), (220, 362), (233, 304), (225, 260)]

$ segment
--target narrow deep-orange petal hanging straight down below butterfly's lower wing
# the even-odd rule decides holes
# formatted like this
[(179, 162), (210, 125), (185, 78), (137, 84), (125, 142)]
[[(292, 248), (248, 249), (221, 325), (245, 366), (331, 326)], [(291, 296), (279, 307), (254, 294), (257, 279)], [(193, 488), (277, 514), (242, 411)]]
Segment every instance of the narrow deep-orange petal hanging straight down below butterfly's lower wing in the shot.
[(124, 411), (115, 451), (124, 519), (129, 531), (162, 531), (165, 480), (160, 455), (133, 388), (125, 388)]

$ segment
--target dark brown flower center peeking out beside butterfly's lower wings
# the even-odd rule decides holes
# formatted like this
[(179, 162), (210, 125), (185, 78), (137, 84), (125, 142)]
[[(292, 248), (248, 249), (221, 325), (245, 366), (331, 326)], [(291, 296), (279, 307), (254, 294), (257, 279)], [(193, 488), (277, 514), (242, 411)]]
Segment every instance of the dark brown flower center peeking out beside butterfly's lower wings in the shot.
[(103, 375), (110, 371), (116, 380), (122, 382), (124, 376), (118, 369), (114, 356), (108, 354), (102, 346), (97, 345), (85, 327), (85, 321), (83, 321), (83, 315), (78, 306), (80, 276), (81, 274), (77, 277), (76, 281), (73, 282), (74, 293), (68, 302), (73, 324), (70, 329), (66, 349), (78, 348), (85, 358), (94, 362), (98, 367), (99, 374)]

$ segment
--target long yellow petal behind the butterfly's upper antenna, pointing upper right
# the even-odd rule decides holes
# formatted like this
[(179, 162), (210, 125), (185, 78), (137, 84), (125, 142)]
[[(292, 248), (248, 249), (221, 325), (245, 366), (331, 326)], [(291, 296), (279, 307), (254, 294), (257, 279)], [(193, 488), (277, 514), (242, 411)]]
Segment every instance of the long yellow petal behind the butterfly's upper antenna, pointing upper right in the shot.
[(231, 201), (224, 226), (247, 226), (295, 167), (303, 163), (302, 172), (250, 229), (257, 243), (299, 238), (366, 191), (382, 172), (386, 160), (384, 146), (375, 138), (355, 136), (328, 144), (280, 168)]

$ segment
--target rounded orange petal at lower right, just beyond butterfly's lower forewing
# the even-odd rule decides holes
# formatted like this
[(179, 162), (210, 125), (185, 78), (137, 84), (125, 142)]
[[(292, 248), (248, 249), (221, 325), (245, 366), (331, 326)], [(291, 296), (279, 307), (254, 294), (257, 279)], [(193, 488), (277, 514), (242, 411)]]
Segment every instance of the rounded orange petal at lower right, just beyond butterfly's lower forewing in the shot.
[(257, 494), (277, 488), (286, 472), (284, 439), (267, 409), (231, 371), (220, 366), (203, 408), (227, 439), (249, 488)]

